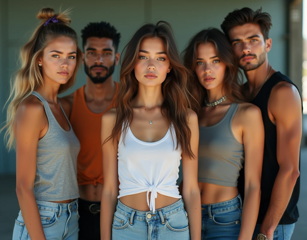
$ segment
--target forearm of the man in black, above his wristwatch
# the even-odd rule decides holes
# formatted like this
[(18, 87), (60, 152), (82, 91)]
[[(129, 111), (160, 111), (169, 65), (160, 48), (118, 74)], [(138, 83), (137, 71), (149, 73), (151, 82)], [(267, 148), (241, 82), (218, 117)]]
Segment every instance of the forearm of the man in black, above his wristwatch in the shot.
[(298, 176), (298, 171), (279, 169), (274, 182), (270, 205), (260, 228), (261, 233), (273, 234), (286, 210)]

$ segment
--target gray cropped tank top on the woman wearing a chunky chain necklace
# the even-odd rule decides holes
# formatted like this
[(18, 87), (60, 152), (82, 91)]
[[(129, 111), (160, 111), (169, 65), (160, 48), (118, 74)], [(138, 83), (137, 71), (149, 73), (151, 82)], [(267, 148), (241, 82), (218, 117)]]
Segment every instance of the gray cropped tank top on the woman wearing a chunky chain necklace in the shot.
[(235, 139), (231, 122), (238, 107), (238, 103), (232, 103), (220, 122), (199, 127), (198, 182), (237, 186), (244, 146)]

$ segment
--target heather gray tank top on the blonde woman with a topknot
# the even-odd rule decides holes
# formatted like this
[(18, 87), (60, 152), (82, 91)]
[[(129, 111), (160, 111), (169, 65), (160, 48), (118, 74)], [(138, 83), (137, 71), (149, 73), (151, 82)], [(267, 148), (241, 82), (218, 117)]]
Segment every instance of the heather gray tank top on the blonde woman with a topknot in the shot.
[(44, 104), (49, 127), (44, 137), (38, 140), (37, 164), (34, 180), (34, 195), (39, 201), (63, 201), (79, 197), (77, 183), (77, 156), (80, 143), (72, 130), (65, 131), (56, 121), (48, 102), (33, 91)]

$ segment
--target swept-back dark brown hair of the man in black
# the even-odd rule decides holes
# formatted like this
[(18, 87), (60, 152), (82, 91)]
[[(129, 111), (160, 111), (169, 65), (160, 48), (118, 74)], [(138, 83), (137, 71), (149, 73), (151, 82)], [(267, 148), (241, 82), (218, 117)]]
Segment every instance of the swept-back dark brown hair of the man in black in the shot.
[(235, 9), (229, 13), (224, 19), (221, 28), (225, 35), (229, 38), (229, 31), (236, 27), (247, 23), (258, 24), (261, 29), (264, 40), (269, 38), (269, 30), (272, 26), (271, 16), (268, 13), (262, 13), (262, 8), (254, 12), (248, 7), (242, 9)]

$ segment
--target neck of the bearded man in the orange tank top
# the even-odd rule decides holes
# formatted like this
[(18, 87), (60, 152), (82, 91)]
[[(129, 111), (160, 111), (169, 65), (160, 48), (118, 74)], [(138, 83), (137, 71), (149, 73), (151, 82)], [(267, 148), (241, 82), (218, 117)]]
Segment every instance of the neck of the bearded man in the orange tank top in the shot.
[(93, 83), (91, 79), (86, 77), (86, 85), (84, 87), (84, 94), (87, 98), (101, 100), (110, 98), (114, 94), (115, 82), (113, 81), (113, 75), (107, 78), (103, 83)]

